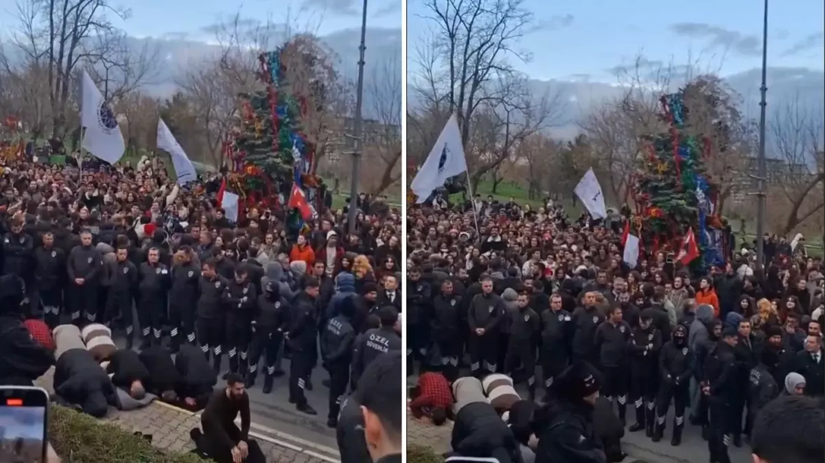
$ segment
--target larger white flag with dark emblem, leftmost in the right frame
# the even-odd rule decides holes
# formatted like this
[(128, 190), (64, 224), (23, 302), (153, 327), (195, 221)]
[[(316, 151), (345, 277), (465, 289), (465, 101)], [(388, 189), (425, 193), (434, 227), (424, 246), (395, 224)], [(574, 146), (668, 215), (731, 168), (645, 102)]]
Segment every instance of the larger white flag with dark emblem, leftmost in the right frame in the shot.
[(436, 145), (427, 156), (427, 161), (410, 184), (410, 189), (418, 197), (417, 203), (427, 201), (432, 190), (444, 185), (450, 177), (467, 171), (467, 159), (461, 144), (461, 132), (455, 114), (441, 130)]

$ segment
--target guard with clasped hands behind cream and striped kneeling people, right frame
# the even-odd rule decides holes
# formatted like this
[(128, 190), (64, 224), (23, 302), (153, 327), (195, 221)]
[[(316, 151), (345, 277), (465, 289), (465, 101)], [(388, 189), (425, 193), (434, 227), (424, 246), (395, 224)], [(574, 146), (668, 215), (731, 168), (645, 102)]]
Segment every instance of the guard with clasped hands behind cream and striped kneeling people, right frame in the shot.
[(493, 279), (481, 281), (481, 294), (469, 303), (470, 372), (473, 376), (487, 376), (497, 370), (498, 329), (506, 318), (502, 298), (493, 292)]

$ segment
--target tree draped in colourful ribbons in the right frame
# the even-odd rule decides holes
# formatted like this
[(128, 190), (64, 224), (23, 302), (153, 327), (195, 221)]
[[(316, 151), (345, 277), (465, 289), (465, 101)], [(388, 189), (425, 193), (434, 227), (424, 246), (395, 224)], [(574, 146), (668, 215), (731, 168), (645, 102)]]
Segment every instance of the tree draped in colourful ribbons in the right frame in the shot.
[(724, 264), (727, 247), (724, 219), (715, 214), (719, 186), (706, 168), (711, 142), (687, 130), (691, 114), (684, 90), (662, 96), (660, 102), (669, 130), (644, 138), (645, 152), (633, 181), (636, 212), (630, 231), (651, 254), (678, 255), (691, 230), (700, 250), (691, 269), (703, 272)]

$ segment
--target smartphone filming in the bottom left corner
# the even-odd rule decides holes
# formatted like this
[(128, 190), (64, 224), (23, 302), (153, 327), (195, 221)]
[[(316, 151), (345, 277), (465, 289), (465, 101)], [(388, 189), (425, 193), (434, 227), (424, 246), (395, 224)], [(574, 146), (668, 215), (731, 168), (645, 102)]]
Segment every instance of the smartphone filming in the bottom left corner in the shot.
[(0, 463), (43, 463), (49, 395), (39, 387), (0, 386)]

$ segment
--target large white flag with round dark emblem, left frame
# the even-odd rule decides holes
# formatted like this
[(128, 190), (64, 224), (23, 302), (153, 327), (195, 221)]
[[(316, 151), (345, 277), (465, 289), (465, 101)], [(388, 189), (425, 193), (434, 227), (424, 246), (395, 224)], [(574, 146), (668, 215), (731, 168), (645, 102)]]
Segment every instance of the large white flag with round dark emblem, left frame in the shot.
[(103, 99), (101, 91), (86, 71), (83, 71), (80, 105), (80, 122), (86, 128), (82, 147), (92, 156), (114, 164), (123, 157), (126, 144), (117, 124), (115, 113)]

